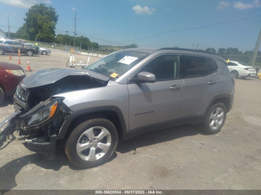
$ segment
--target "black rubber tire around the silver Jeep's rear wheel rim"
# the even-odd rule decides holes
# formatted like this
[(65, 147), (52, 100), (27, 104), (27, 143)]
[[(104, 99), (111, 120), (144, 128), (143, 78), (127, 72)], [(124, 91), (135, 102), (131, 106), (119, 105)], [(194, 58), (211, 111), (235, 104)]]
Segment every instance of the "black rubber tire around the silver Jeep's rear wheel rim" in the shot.
[[(215, 120), (211, 119), (212, 115), (211, 114), (215, 114), (217, 113), (217, 110), (218, 108), (222, 108), (223, 109), (223, 120), (221, 121), (220, 119), (215, 119), (215, 120), (218, 120), (217, 122), (215, 122)], [(215, 112), (216, 111), (216, 112)], [(221, 116), (221, 109), (219, 111), (220, 113), (220, 116)], [(225, 123), (225, 120), (226, 120), (226, 107), (223, 103), (217, 103), (217, 104), (214, 104), (208, 111), (208, 114), (206, 115), (203, 123), (201, 124), (202, 128), (203, 128), (203, 131), (207, 134), (215, 134), (215, 133), (218, 133), (220, 132), (221, 128), (223, 127), (224, 123)], [(217, 115), (219, 114), (217, 113)], [(213, 115), (214, 116), (214, 115)], [(214, 126), (211, 128), (211, 125), (212, 124), (211, 122), (213, 122)], [(216, 125), (216, 127), (215, 127)], [(216, 129), (213, 129), (213, 128), (216, 128)]]

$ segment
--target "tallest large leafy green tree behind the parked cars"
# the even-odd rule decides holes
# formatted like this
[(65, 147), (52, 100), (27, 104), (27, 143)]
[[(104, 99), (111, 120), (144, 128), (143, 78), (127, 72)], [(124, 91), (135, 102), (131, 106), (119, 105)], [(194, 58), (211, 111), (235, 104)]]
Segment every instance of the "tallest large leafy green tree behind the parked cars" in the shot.
[(35, 37), (40, 41), (53, 42), (55, 40), (55, 25), (59, 15), (56, 14), (55, 8), (45, 6), (41, 3), (29, 8), (24, 18), (26, 32), (31, 39)]

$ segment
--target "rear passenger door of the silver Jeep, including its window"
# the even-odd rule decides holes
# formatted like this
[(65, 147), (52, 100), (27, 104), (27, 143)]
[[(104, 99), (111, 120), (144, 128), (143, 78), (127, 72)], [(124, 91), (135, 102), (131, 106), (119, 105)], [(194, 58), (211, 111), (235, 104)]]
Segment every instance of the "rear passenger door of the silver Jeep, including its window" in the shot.
[(215, 77), (218, 71), (213, 59), (180, 56), (180, 77), (184, 79), (179, 123), (203, 116), (220, 87)]

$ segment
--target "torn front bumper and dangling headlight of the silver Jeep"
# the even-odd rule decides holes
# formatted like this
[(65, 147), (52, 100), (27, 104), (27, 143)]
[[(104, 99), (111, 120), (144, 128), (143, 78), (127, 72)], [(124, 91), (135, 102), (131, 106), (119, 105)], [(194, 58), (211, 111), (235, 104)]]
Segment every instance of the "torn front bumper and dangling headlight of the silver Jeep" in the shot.
[(0, 125), (0, 147), (18, 130), (18, 139), (25, 140), (23, 145), (27, 149), (53, 160), (59, 129), (70, 113), (61, 98), (49, 98), (26, 113), (17, 111)]

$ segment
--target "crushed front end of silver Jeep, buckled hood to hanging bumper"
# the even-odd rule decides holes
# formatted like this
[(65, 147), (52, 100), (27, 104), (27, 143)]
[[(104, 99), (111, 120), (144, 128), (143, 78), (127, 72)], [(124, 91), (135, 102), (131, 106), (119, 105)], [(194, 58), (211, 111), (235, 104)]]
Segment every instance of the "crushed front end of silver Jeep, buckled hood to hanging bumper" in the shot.
[[(49, 68), (26, 77), (14, 95), (16, 112), (0, 124), (0, 147), (13, 132), (19, 131), (18, 139), (26, 140), (26, 148), (49, 155), (48, 150), (55, 151), (62, 124), (73, 113), (62, 97), (53, 95), (103, 87), (108, 81), (106, 76), (81, 69)], [(39, 144), (46, 145), (44, 151), (37, 150)], [(54, 158), (55, 154), (50, 156)]]

